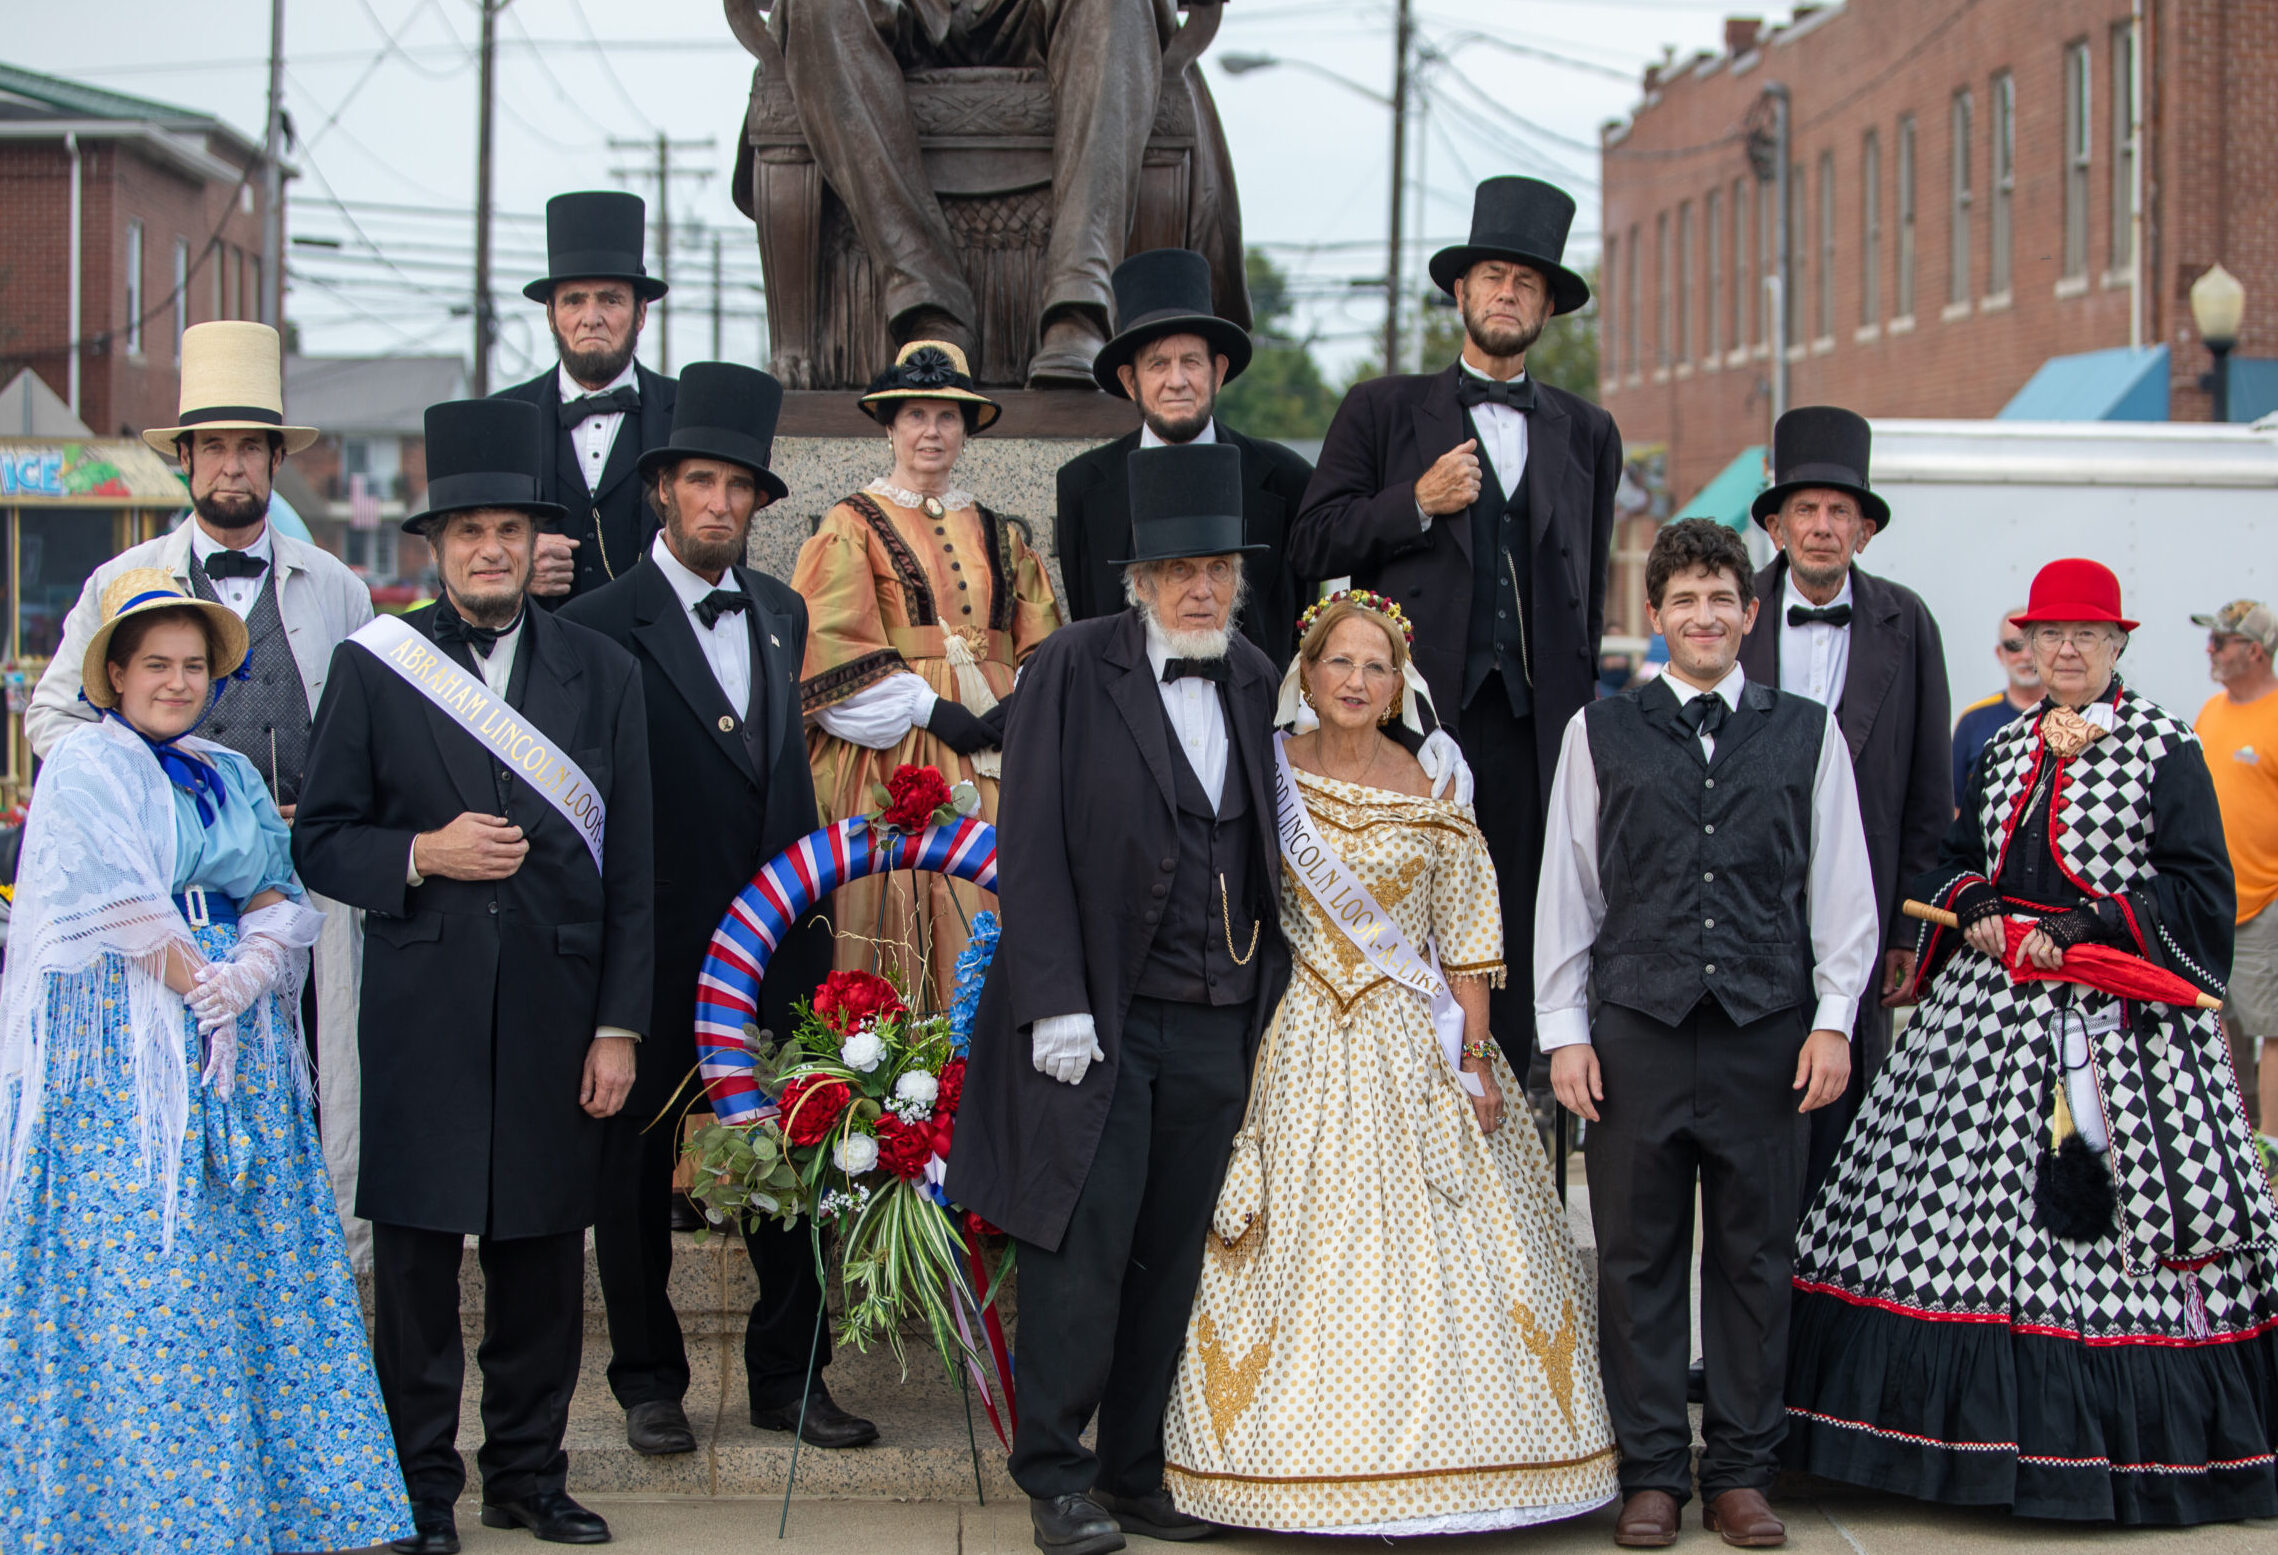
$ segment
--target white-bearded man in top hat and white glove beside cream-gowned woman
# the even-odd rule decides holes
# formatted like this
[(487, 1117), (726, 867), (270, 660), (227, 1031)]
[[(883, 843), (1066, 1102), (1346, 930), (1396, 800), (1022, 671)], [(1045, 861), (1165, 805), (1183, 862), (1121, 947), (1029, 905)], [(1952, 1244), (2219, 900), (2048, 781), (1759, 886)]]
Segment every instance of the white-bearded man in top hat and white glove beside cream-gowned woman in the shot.
[[(1271, 660), (1230, 631), (1242, 453), (1130, 455), (1134, 606), (1064, 626), (1005, 738), (998, 904), (948, 1193), (1021, 1243), (1011, 1475), (1036, 1546), (1194, 1539), (1162, 1414), (1289, 981), (1269, 783)], [(1098, 1450), (1080, 1441), (1098, 1409)]]

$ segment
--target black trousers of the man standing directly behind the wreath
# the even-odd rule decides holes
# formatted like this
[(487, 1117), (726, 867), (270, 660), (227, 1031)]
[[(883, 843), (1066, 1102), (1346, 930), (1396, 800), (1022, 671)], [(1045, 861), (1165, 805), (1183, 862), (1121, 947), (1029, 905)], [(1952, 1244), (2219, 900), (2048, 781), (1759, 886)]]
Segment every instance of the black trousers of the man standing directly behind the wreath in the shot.
[[(608, 1309), (608, 1391), (617, 1402), (681, 1400), (688, 1396), (688, 1346), (672, 1311), (672, 1163), (679, 1129), (661, 1122), (647, 1134), (622, 1111), (601, 1145), (601, 1213), (592, 1227), (592, 1257)], [(743, 1330), (743, 1368), (754, 1409), (777, 1409), (806, 1393), (806, 1357), (822, 1311), (822, 1280), (809, 1229), (786, 1232), (772, 1220), (745, 1236), (759, 1300)], [(829, 1332), (816, 1350), (816, 1375), (831, 1359)]]

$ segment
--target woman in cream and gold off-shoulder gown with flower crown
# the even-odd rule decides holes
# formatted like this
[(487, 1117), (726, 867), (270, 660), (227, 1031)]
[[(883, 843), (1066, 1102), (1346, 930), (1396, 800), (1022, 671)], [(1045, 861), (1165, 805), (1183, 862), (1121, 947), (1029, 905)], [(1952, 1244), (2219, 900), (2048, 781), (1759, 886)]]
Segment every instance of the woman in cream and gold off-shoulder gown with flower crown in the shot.
[(1285, 751), (1319, 842), (1417, 954), (1437, 954), (1481, 1095), (1424, 993), (1378, 972), (1285, 867), (1296, 968), (1164, 1423), (1171, 1496), (1214, 1523), (1476, 1532), (1576, 1516), (1617, 1489), (1595, 1286), (1524, 1106), (1503, 1118), (1522, 1088), (1488, 1038), (1494, 865), (1469, 811), (1428, 797), (1380, 733), (1421, 690), (1403, 685), (1390, 610), (1333, 597), (1310, 612), (1289, 674), (1321, 729)]

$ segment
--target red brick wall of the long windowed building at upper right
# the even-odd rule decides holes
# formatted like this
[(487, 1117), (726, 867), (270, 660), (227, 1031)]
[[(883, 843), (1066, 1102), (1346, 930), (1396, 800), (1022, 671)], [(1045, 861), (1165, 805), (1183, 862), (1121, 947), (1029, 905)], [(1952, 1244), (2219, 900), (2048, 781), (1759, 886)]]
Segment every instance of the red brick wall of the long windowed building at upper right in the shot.
[[(2178, 382), (2196, 380), (2205, 348), (2178, 285), (2223, 260), (2248, 289), (2244, 355), (2278, 353), (2278, 5), (2269, 0), (2150, 0), (2146, 25), (2146, 116), (2150, 173), (2146, 212), (2146, 344), (2173, 346)], [(1850, 0), (1768, 34), (1738, 57), (1661, 73), (1604, 157), (1604, 232), (1613, 244), (1601, 289), (1604, 403), (1631, 446), (1667, 444), (1670, 492), (1683, 501), (1740, 449), (1765, 439), (1772, 362), (1759, 337), (1731, 355), (1731, 184), (1750, 180), (1747, 269), (1763, 275), (1745, 127), (1765, 82), (1793, 93), (1791, 164), (1802, 191), (1795, 278), (1802, 332), (1791, 344), (1788, 403), (1841, 403), (1870, 417), (1991, 417), (2052, 355), (2128, 344), (2128, 271), (2112, 269), (2114, 80), (2112, 30), (2128, 0)], [(2089, 48), (2087, 264), (2064, 275), (2066, 46)], [(2141, 43), (2139, 43), (2141, 46)], [(1991, 287), (1996, 80), (2016, 89), (2011, 275)], [(1948, 305), (1952, 98), (1968, 89), (1970, 244), (1968, 287)], [(1916, 262), (1914, 312), (1895, 312), (1898, 127), (1914, 116)], [(1879, 141), (1879, 287), (1863, 307), (1863, 137)], [(1818, 330), (1820, 157), (1834, 155), (1834, 328)], [(1704, 351), (1702, 291), (1706, 196), (1722, 203), (1720, 351)], [(1670, 330), (1674, 332), (1681, 207), (1693, 207), (1690, 342), (1658, 360), (1661, 275), (1656, 230), (1665, 219)], [(1631, 232), (1638, 253), (1631, 255)], [(1629, 269), (1636, 264), (1636, 310)], [(2257, 305), (2260, 298), (2260, 305)], [(1754, 314), (1761, 303), (1752, 301)], [(2257, 326), (2257, 310), (2262, 323)], [(1636, 330), (1636, 371), (1631, 332)], [(2175, 417), (2205, 417), (2205, 396), (2178, 389)]]

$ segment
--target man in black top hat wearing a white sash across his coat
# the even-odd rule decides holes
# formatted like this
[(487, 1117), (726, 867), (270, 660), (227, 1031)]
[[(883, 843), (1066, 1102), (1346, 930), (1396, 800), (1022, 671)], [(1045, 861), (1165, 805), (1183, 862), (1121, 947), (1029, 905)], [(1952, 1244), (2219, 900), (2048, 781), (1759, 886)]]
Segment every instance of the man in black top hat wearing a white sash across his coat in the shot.
[(417, 1532), (458, 1548), (458, 1275), (483, 1261), (483, 1523), (599, 1544), (565, 1494), (585, 1227), (649, 1022), (656, 870), (640, 672), (526, 601), (540, 417), (426, 412), (442, 599), (333, 653), (294, 824), (312, 890), (364, 911), (371, 1359)]

